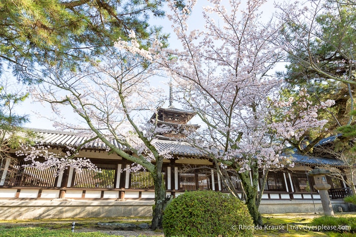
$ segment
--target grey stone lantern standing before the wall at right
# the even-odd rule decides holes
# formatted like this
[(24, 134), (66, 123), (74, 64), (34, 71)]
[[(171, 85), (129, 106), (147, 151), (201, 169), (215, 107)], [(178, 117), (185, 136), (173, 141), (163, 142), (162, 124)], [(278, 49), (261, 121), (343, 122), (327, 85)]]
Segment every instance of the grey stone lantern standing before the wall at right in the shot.
[(329, 198), (327, 190), (331, 188), (331, 185), (326, 181), (326, 174), (330, 174), (330, 170), (315, 167), (314, 170), (309, 171), (309, 176), (314, 177), (314, 188), (319, 191), (322, 209), (325, 216), (334, 216), (333, 206)]

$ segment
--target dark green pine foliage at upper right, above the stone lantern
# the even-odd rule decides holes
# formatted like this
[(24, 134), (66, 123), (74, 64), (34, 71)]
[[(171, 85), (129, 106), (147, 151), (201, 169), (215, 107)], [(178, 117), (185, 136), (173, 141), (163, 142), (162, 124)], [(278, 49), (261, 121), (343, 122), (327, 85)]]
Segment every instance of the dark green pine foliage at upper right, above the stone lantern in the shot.
[[(310, 99), (316, 103), (328, 99), (335, 101), (328, 112), (319, 114), (320, 119), (330, 121), (327, 128), (334, 130), (349, 123), (350, 96), (355, 96), (356, 85), (348, 87), (346, 83), (332, 78), (354, 81), (356, 32), (353, 25), (356, 23), (356, 8), (352, 4), (338, 4), (336, 1), (327, 1), (320, 6), (323, 7), (315, 17), (311, 35), (304, 27), (306, 25), (286, 22), (282, 32), (287, 36), (298, 32), (296, 35), (301, 38), (296, 40), (299, 44), (296, 43), (289, 54), (287, 71), (281, 76), (291, 88), (307, 88)], [(292, 42), (295, 38), (288, 40)], [(310, 65), (315, 65), (318, 70)]]

